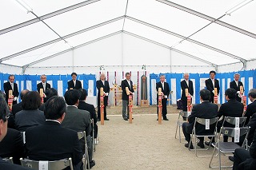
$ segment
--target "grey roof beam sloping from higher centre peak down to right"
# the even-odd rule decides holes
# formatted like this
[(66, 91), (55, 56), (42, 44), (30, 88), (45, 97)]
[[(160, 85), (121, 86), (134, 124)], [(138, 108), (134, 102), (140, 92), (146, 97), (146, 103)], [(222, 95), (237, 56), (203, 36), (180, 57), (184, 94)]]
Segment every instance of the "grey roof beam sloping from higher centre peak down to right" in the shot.
[(234, 55), (234, 54), (232, 54), (232, 53), (227, 53), (226, 51), (222, 51), (221, 49), (216, 49), (216, 48), (214, 48), (213, 46), (206, 45), (206, 44), (204, 44), (204, 43), (202, 43), (202, 42), (198, 42), (198, 41), (195, 41), (195, 40), (193, 40), (193, 39), (186, 38), (185, 36), (182, 36), (182, 35), (180, 35), (180, 34), (176, 34), (176, 33), (174, 33), (174, 32), (171, 32), (170, 30), (165, 30), (165, 29), (160, 28), (160, 27), (158, 27), (158, 26), (154, 26), (154, 25), (152, 25), (152, 24), (150, 24), (150, 23), (147, 23), (147, 22), (142, 22), (142, 21), (140, 21), (140, 20), (138, 20), (138, 19), (136, 19), (136, 18), (131, 18), (131, 17), (129, 17), (129, 16), (126, 16), (126, 18), (127, 18), (127, 19), (130, 19), (131, 21), (138, 22), (138, 23), (140, 23), (140, 24), (142, 24), (142, 25), (144, 25), (144, 26), (149, 26), (149, 27), (151, 27), (151, 28), (153, 28), (153, 29), (155, 29), (155, 30), (160, 30), (160, 31), (162, 31), (162, 32), (164, 32), (164, 33), (166, 33), (166, 34), (170, 34), (170, 35), (173, 35), (173, 36), (175, 36), (175, 37), (182, 38), (182, 39), (184, 39), (184, 40), (186, 40), (186, 41), (188, 41), (188, 42), (192, 42), (192, 43), (194, 43), (194, 44), (201, 45), (201, 46), (203, 46), (203, 47), (205, 47), (205, 48), (207, 48), (207, 49), (212, 49), (212, 50), (214, 50), (214, 51), (216, 51), (216, 52), (218, 52), (218, 53), (225, 54), (225, 55), (227, 55), (227, 56), (229, 56), (229, 57), (232, 57), (232, 58), (234, 58), (234, 59), (240, 60), (240, 61), (242, 61), (242, 62), (246, 61), (246, 60), (245, 60), (244, 58), (242, 58), (242, 57), (238, 57), (238, 56), (236, 56), (236, 55)]

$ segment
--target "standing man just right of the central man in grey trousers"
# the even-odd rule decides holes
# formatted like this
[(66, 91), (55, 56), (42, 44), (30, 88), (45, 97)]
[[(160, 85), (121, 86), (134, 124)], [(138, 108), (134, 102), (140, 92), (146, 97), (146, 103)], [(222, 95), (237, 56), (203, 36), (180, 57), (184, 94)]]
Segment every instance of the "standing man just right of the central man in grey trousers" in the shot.
[[(165, 81), (166, 81), (165, 75), (160, 75), (160, 81), (156, 84), (156, 89), (158, 92), (158, 88), (161, 88), (162, 94), (157, 94), (157, 105), (158, 105), (158, 96), (162, 95), (162, 118), (165, 121), (169, 121), (169, 119), (166, 117), (166, 114), (167, 114), (167, 98), (169, 97), (169, 94), (170, 94), (170, 87), (169, 87), (169, 84), (166, 83)], [(157, 112), (158, 112), (158, 107), (157, 107)]]

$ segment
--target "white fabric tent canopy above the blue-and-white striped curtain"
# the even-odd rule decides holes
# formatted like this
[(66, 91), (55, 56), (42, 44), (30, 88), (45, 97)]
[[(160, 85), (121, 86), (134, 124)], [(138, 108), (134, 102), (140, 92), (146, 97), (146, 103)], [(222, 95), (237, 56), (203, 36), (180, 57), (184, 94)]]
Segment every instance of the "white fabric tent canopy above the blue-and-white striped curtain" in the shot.
[(241, 63), (236, 69), (246, 69), (256, 53), (254, 9), (253, 0), (5, 0), (0, 63), (21, 67), (23, 73), (79, 65), (206, 65), (217, 70)]

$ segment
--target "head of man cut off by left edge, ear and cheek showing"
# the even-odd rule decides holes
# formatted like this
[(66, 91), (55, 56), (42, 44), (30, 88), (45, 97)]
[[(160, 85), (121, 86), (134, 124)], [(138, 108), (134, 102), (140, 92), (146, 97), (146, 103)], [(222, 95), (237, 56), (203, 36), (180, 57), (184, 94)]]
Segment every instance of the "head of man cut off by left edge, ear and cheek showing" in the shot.
[(0, 94), (0, 141), (7, 133), (7, 114), (9, 113), (6, 99)]

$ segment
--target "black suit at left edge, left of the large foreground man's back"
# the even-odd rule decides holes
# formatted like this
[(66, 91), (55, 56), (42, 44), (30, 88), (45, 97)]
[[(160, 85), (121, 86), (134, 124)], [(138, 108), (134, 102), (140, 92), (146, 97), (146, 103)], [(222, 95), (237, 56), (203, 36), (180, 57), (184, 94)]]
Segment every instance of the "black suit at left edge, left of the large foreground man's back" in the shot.
[(24, 156), (24, 151), (22, 133), (8, 128), (5, 138), (0, 142), (0, 156), (13, 157), (14, 164), (20, 164), (19, 159)]

